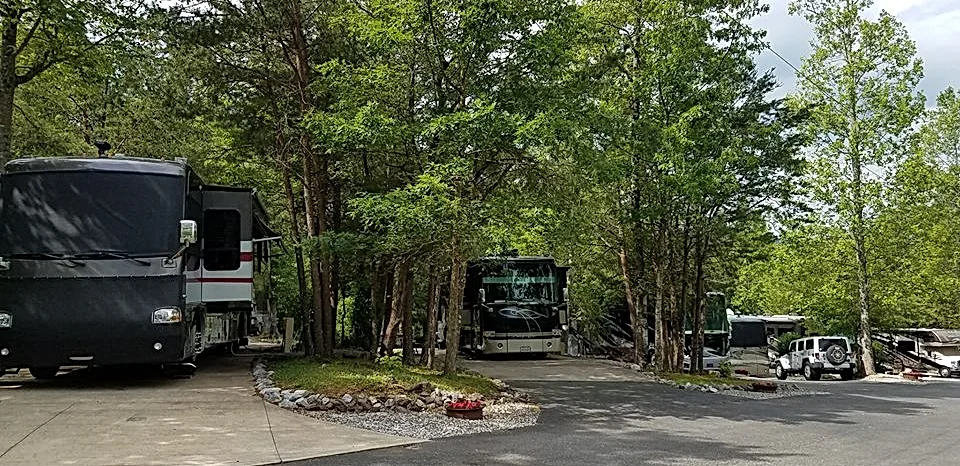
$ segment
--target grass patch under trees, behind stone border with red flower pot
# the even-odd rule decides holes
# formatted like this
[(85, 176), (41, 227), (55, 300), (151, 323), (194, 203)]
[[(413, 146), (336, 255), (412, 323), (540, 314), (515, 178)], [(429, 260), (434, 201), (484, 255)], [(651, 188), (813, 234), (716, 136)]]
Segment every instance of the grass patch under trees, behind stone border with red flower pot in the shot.
[(430, 382), (441, 390), (484, 396), (499, 392), (486, 377), (458, 373), (443, 375), (425, 367), (405, 367), (360, 360), (320, 361), (300, 358), (269, 364), (273, 380), (284, 388), (298, 388), (328, 396), (352, 394), (401, 394), (418, 382)]

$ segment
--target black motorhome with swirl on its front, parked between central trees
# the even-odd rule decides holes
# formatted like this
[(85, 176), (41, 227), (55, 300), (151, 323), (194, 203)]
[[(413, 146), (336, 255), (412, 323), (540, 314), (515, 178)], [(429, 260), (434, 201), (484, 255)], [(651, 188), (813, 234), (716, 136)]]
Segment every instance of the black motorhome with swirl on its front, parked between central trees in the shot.
[(567, 270), (550, 257), (487, 257), (467, 265), (461, 349), (560, 353)]

